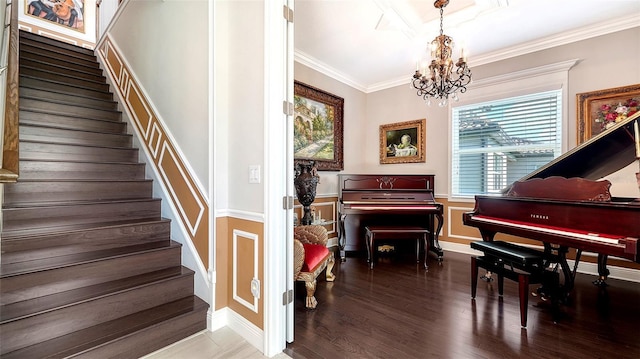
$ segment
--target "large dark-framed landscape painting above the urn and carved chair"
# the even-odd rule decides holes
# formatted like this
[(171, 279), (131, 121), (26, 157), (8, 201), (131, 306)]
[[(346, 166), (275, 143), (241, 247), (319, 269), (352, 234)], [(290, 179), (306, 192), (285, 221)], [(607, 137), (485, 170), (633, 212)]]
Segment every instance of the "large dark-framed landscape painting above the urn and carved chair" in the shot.
[(344, 168), (343, 112), (343, 98), (295, 81), (294, 162), (314, 161), (319, 171)]

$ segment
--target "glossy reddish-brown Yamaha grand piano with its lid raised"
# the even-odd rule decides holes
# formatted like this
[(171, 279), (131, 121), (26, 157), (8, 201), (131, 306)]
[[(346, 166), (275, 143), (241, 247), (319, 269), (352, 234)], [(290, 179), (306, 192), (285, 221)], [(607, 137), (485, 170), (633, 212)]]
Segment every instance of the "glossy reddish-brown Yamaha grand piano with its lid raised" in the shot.
[[(602, 179), (636, 160), (639, 115), (516, 181), (502, 196), (476, 196), (473, 212), (463, 214), (464, 224), (477, 227), (484, 241), (493, 241), (496, 233), (541, 241), (564, 277), (561, 288), (551, 289), (559, 296), (573, 288), (582, 251), (598, 254), (594, 284), (606, 286), (608, 256), (640, 263), (640, 199), (612, 197), (611, 183)], [(566, 260), (570, 248), (576, 249), (573, 271)]]

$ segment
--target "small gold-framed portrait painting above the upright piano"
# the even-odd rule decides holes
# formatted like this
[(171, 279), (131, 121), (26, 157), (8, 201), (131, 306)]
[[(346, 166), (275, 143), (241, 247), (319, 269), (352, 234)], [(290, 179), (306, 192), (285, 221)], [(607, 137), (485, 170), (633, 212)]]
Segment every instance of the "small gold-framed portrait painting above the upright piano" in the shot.
[(380, 163), (425, 162), (426, 119), (380, 126)]

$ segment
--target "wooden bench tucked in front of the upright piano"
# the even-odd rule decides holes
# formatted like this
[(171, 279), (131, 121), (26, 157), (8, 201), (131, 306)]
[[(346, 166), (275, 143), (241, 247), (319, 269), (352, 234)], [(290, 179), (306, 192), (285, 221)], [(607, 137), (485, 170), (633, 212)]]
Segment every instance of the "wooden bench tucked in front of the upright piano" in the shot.
[(420, 240), (424, 242), (424, 268), (427, 268), (427, 255), (429, 253), (429, 230), (416, 226), (366, 226), (365, 242), (367, 244), (367, 262), (373, 269), (375, 241), (377, 239), (415, 239), (416, 262), (420, 263)]

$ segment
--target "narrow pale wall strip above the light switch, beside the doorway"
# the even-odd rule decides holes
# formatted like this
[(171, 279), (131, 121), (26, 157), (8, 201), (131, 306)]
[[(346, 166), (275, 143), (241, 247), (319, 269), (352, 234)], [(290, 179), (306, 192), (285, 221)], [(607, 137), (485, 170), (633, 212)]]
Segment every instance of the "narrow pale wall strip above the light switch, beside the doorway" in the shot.
[(260, 166), (264, 177), (264, 3), (218, 1), (216, 6), (221, 11), (216, 19), (226, 22), (221, 35), (231, 39), (226, 49), (216, 46), (216, 59), (225, 66), (217, 68), (226, 72), (226, 86), (220, 87), (226, 93), (216, 94), (216, 124), (227, 130), (228, 208), (263, 213), (264, 187), (249, 183), (249, 166)]

